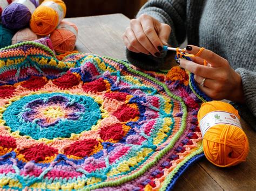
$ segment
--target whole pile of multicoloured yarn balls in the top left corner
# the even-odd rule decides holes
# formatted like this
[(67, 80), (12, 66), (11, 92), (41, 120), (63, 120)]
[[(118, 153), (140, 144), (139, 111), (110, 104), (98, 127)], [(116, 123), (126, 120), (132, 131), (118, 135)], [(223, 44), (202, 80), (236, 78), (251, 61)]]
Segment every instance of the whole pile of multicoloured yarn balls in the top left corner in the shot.
[[(38, 0), (0, 0), (0, 11), (3, 9), (0, 48), (50, 37), (57, 53), (73, 51), (78, 29), (75, 24), (62, 21), (66, 14), (65, 3), (62, 0), (45, 0), (38, 5)], [(32, 14), (31, 7), (35, 8)]]

